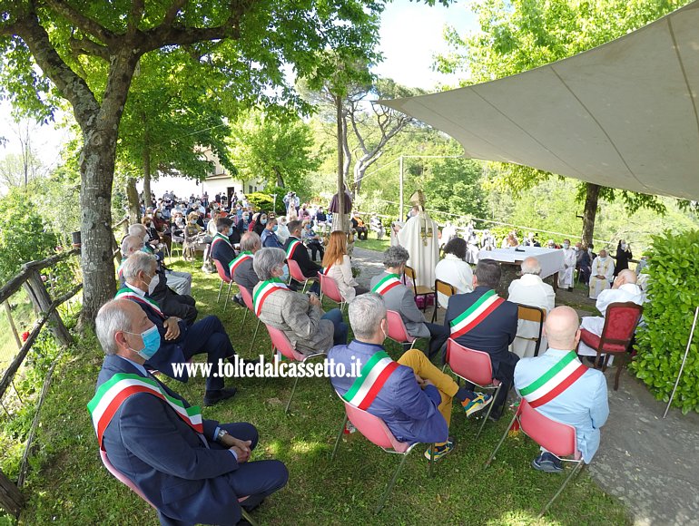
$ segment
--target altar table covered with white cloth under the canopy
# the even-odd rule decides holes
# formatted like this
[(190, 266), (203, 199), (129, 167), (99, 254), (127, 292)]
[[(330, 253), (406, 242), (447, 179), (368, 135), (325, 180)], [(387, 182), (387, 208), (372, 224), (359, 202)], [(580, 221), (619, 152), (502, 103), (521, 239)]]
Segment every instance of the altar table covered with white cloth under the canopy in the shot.
[[(517, 279), (519, 266), (526, 258), (537, 258), (541, 265), (541, 278), (546, 280), (546, 283), (553, 285), (554, 289), (558, 284), (558, 271), (563, 268), (563, 250), (560, 248), (544, 248), (544, 247), (517, 247), (517, 248), (496, 248), (494, 250), (480, 250), (478, 252), (478, 260), (494, 259), (502, 267), (502, 278), (500, 279), (500, 290), (498, 293), (507, 297), (507, 287)], [(546, 279), (553, 277), (553, 279)]]

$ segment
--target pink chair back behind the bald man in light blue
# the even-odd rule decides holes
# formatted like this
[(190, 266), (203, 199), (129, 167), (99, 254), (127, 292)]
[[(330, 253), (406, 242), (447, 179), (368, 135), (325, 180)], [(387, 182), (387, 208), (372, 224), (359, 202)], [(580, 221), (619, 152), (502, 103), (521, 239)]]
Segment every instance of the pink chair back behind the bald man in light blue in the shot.
[(519, 425), (534, 442), (556, 456), (577, 456), (576, 428), (539, 413), (524, 398), (519, 404)]

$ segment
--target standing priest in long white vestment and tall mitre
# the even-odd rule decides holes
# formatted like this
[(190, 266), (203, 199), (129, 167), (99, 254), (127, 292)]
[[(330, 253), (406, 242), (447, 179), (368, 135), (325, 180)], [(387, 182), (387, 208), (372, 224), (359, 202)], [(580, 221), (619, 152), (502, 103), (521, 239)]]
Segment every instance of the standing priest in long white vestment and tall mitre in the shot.
[(439, 238), (437, 223), (425, 211), (425, 195), (421, 190), (410, 197), (415, 205), (413, 217), (408, 219), (398, 233), (399, 245), (408, 250), (409, 267), (415, 270), (416, 285), (435, 286), (435, 267), (439, 260)]

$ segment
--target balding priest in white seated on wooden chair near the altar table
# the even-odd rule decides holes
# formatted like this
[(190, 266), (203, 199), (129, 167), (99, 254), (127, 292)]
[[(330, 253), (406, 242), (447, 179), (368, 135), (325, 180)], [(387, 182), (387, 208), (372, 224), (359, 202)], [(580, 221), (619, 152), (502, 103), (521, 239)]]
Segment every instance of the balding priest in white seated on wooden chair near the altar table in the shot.
[[(526, 258), (522, 261), (522, 278), (515, 279), (510, 283), (507, 292), (507, 301), (528, 305), (529, 307), (539, 307), (551, 312), (556, 307), (556, 293), (551, 287), (541, 279), (541, 265), (537, 258)], [(520, 319), (517, 322), (517, 337), (512, 342), (512, 352), (520, 358), (530, 358), (534, 356), (537, 343), (523, 338), (536, 338), (539, 335), (539, 324), (534, 321)], [(541, 336), (539, 353), (543, 354), (547, 347), (546, 336)]]

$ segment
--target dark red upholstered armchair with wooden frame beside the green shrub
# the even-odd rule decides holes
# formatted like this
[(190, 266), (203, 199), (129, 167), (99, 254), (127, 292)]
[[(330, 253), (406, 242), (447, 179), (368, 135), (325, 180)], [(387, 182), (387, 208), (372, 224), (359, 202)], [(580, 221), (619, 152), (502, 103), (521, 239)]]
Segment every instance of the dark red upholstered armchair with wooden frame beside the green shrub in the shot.
[[(595, 368), (600, 365), (600, 356), (605, 355), (602, 360), (602, 371), (606, 371), (606, 365), (610, 355), (627, 357), (626, 351), (634, 339), (635, 328), (643, 316), (644, 307), (636, 305), (633, 301), (617, 302), (606, 307), (605, 326), (602, 328), (602, 335), (597, 336), (586, 329), (580, 330), (580, 341), (587, 346), (596, 349)], [(616, 366), (614, 378), (614, 390), (619, 388), (619, 377), (627, 359)]]

